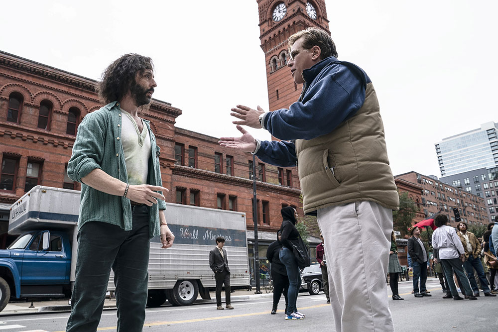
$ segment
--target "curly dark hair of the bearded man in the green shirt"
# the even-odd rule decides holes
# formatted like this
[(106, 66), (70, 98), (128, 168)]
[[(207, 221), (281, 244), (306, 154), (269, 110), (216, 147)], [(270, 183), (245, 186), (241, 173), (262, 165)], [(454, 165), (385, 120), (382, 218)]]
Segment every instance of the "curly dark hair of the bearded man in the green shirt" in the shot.
[(135, 53), (123, 55), (102, 73), (97, 88), (99, 97), (106, 103), (121, 101), (135, 84), (135, 76), (145, 70), (154, 70), (152, 59)]

